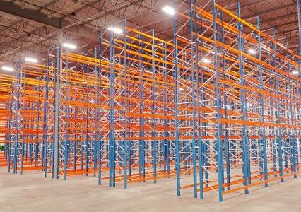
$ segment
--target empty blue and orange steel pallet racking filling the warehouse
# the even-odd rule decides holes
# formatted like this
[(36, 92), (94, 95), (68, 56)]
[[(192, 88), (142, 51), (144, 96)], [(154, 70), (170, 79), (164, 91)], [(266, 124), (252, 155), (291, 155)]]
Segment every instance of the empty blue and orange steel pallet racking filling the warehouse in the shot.
[(124, 188), (170, 178), (177, 195), (219, 201), (297, 177), (299, 52), (262, 32), (259, 17), (242, 20), (240, 3), (236, 13), (214, 0), (196, 5), (175, 1), (171, 41), (124, 20), (75, 54), (59, 31), (45, 63), (19, 60), (12, 76), (1, 74), (11, 85), (1, 85), (10, 95), (1, 97), (0, 166)]

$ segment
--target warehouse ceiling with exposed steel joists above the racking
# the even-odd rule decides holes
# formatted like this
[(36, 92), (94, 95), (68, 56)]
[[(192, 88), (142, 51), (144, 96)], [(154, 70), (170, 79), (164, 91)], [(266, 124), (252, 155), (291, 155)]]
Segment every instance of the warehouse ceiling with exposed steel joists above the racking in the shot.
[[(197, 1), (203, 7), (208, 1)], [(237, 11), (236, 0), (217, 0), (228, 10)], [(241, 0), (244, 20), (256, 24), (261, 18), (261, 30), (297, 50), (298, 24), (295, 0)], [(189, 1), (179, 1), (186, 5)], [(172, 18), (162, 11), (172, 0), (0, 0), (0, 64), (15, 62), (24, 55), (46, 58), (48, 47), (56, 43), (57, 30), (64, 30), (64, 39), (78, 47), (98, 42), (98, 30), (114, 23), (126, 24), (143, 32), (155, 29), (155, 35), (172, 39)], [(211, 11), (211, 4), (206, 6)], [(177, 23), (181, 25), (181, 23)], [(81, 49), (81, 48), (80, 48)]]

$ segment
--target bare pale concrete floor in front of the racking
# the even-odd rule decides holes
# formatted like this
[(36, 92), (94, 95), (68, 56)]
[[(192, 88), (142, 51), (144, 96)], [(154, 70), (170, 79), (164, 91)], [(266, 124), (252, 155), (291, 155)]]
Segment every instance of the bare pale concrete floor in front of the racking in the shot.
[[(107, 184), (107, 182), (105, 182)], [(0, 211), (301, 211), (301, 177), (220, 203), (175, 196), (175, 179), (129, 184), (129, 189), (98, 186), (93, 177), (45, 179), (41, 173), (8, 174), (0, 169)]]

